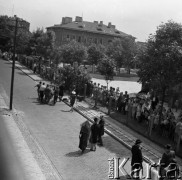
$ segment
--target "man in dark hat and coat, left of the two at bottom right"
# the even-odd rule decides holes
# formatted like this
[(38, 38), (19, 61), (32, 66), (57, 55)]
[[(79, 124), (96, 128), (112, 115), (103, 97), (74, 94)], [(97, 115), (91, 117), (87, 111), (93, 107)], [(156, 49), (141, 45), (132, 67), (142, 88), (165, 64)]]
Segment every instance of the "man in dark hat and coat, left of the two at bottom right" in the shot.
[(134, 177), (134, 174), (136, 173), (136, 178), (139, 177), (140, 170), (143, 170), (143, 156), (141, 150), (141, 143), (142, 141), (140, 139), (137, 139), (131, 149), (131, 176)]

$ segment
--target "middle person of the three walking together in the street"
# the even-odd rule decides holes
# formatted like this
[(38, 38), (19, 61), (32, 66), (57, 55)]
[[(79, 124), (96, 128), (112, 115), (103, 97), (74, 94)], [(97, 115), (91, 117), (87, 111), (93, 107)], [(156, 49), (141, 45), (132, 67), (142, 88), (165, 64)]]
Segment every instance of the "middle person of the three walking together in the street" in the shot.
[(97, 143), (97, 139), (98, 139), (98, 134), (99, 134), (98, 119), (94, 118), (94, 123), (91, 126), (90, 151), (96, 151), (96, 143)]

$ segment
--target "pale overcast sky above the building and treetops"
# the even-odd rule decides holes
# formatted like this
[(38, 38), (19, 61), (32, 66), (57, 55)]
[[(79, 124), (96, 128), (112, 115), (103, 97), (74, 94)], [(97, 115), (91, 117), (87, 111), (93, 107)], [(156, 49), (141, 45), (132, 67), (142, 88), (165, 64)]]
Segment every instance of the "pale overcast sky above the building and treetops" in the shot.
[(182, 23), (182, 0), (0, 0), (0, 15), (30, 23), (30, 31), (60, 24), (62, 17), (111, 22), (116, 29), (145, 42), (157, 26)]

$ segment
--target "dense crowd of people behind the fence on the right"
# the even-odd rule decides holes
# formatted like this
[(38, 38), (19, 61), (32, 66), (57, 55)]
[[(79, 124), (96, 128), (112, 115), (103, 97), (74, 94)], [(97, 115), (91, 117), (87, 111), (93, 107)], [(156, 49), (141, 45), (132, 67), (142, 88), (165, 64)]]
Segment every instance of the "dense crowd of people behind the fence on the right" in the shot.
[(132, 123), (131, 120), (146, 124), (146, 133), (149, 136), (152, 131), (160, 127), (161, 135), (170, 138), (177, 146), (177, 141), (182, 136), (182, 113), (175, 117), (170, 107), (162, 107), (157, 94), (154, 92), (128, 94), (127, 91), (120, 92), (119, 88), (110, 87), (107, 90), (106, 86), (92, 84), (92, 98), (95, 104), (100, 103), (101, 106), (107, 106), (113, 111), (126, 115), (128, 124)]

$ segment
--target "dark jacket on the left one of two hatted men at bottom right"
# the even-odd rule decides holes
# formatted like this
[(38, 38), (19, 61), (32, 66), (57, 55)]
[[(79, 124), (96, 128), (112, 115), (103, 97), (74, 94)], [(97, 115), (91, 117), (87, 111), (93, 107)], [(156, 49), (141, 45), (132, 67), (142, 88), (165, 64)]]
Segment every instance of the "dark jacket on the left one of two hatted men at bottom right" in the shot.
[(142, 157), (142, 151), (139, 148), (139, 146), (136, 145), (136, 144), (133, 145), (132, 149), (131, 149), (131, 152), (132, 152), (131, 165), (133, 166), (135, 163), (142, 164), (143, 157)]

